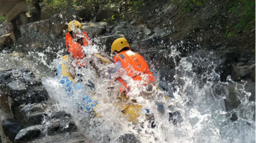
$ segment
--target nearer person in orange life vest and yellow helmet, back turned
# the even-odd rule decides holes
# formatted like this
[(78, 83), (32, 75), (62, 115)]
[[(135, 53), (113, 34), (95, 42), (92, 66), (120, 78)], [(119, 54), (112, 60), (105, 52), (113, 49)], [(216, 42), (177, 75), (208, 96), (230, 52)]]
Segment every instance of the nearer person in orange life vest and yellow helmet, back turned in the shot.
[(115, 54), (114, 63), (116, 67), (109, 69), (109, 73), (119, 73), (116, 80), (123, 84), (123, 86), (119, 88), (120, 92), (127, 93), (127, 91), (130, 90), (130, 87), (127, 86), (127, 82), (121, 78), (121, 75), (124, 73), (134, 81), (142, 82), (143, 85), (147, 86), (147, 90), (152, 89), (152, 85), (155, 84), (153, 73), (150, 71), (144, 58), (131, 50), (129, 43), (125, 38), (118, 38), (113, 42), (111, 53)]

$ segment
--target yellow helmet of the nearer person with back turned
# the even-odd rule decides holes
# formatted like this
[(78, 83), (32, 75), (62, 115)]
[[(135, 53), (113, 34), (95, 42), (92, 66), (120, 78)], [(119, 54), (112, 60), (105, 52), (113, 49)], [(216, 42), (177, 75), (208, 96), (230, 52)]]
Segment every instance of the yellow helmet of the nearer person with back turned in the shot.
[(120, 52), (124, 47), (129, 47), (131, 50), (129, 43), (125, 38), (118, 38), (111, 46), (111, 53), (114, 53), (115, 51)]

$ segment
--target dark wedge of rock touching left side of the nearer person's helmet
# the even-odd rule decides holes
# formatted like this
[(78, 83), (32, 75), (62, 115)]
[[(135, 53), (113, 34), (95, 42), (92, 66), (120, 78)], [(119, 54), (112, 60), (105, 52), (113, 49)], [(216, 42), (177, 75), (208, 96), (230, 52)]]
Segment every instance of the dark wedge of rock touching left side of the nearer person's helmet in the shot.
[(111, 45), (117, 38), (124, 38), (124, 35), (114, 35), (114, 36), (102, 36), (92, 39), (93, 43), (97, 43), (99, 47), (104, 50), (107, 54), (111, 53)]

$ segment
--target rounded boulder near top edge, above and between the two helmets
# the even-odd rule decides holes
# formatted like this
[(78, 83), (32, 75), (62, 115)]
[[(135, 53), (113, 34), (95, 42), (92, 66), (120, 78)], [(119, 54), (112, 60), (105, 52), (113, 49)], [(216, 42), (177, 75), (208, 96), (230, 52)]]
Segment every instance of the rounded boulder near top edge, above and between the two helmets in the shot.
[(119, 14), (119, 7), (115, 4), (107, 4), (100, 6), (99, 11), (96, 15), (97, 21), (102, 21), (103, 19), (109, 19), (112, 15)]

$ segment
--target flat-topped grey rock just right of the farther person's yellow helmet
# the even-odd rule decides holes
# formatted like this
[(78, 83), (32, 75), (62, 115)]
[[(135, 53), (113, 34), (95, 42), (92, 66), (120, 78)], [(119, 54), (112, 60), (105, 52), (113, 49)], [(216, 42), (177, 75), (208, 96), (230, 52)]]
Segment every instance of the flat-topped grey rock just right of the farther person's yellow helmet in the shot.
[(91, 39), (104, 34), (107, 25), (108, 23), (106, 22), (84, 23), (82, 25), (82, 30), (86, 31)]

